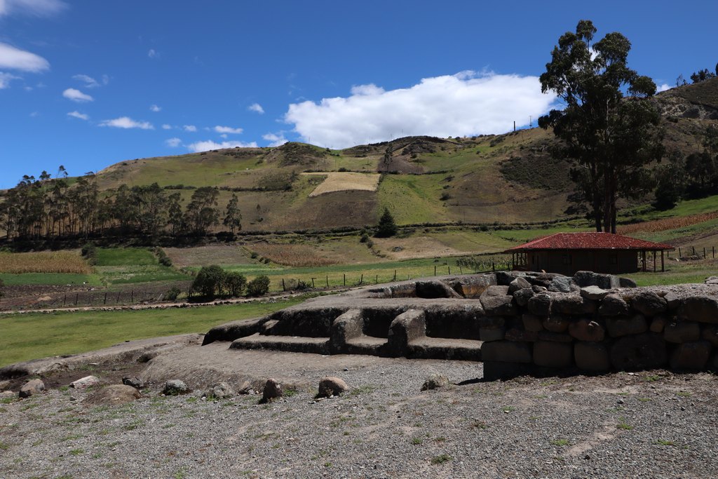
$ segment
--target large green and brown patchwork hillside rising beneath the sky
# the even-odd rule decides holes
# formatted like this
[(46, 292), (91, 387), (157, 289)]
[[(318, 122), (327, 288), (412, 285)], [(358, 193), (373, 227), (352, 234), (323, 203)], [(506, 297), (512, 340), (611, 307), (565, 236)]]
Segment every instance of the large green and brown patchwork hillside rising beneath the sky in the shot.
[[(666, 147), (696, 152), (701, 131), (718, 118), (718, 79), (673, 88), (655, 101)], [(290, 142), (129, 160), (96, 178), (103, 192), (157, 182), (180, 192), (185, 204), (197, 187), (218, 187), (220, 208), (234, 192), (245, 231), (372, 225), (385, 207), (399, 224), (538, 223), (576, 214), (567, 201), (570, 164), (551, 158), (554, 141), (551, 132), (534, 128), (467, 138), (410, 136), (342, 150)], [(375, 187), (377, 173), (383, 175)], [(362, 186), (353, 189), (353, 181)]]

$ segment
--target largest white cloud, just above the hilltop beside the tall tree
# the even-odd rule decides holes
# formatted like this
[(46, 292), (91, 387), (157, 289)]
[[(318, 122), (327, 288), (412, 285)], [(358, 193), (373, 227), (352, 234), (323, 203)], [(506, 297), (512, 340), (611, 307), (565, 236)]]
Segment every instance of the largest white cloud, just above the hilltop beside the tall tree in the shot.
[(345, 148), (398, 136), (503, 133), (551, 109), (537, 77), (462, 72), (424, 78), (410, 88), (352, 88), (347, 98), (289, 105), (284, 121), (305, 141)]

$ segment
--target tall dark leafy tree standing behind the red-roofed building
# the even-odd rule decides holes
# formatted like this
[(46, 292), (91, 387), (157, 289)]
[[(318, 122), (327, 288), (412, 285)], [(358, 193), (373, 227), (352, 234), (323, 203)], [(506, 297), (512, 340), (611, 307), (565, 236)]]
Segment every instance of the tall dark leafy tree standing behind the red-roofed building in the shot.
[[(656, 93), (651, 78), (627, 65), (630, 42), (612, 32), (593, 43), (590, 20), (579, 21), (551, 52), (541, 90), (564, 103), (538, 119), (562, 140), (560, 154), (574, 160), (572, 178), (592, 206), (596, 231), (616, 231), (616, 200), (638, 195), (645, 164), (663, 153), (661, 116), (646, 97)], [(623, 92), (628, 92), (624, 97)]]

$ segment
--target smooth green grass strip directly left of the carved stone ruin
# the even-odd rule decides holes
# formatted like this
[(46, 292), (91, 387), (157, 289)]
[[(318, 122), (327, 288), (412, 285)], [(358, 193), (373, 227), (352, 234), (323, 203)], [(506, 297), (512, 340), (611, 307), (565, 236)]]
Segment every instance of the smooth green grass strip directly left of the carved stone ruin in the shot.
[(166, 310), (0, 315), (0, 367), (52, 355), (83, 353), (126, 340), (207, 332), (215, 325), (261, 317), (301, 301), (291, 299)]

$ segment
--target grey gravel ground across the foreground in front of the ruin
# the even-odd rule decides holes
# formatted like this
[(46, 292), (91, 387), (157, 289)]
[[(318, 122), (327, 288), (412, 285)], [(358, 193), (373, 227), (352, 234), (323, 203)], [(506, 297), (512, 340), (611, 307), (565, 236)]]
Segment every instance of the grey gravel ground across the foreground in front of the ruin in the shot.
[[(0, 478), (718, 477), (709, 373), (483, 382), (464, 361), (227, 354), (225, 366), (281, 371), (297, 391), (258, 404), (155, 384), (134, 403), (89, 406), (61, 387), (0, 404)], [(431, 373), (457, 384), (421, 392)], [(350, 391), (315, 401), (325, 375)], [(225, 376), (238, 388), (241, 375)]]

